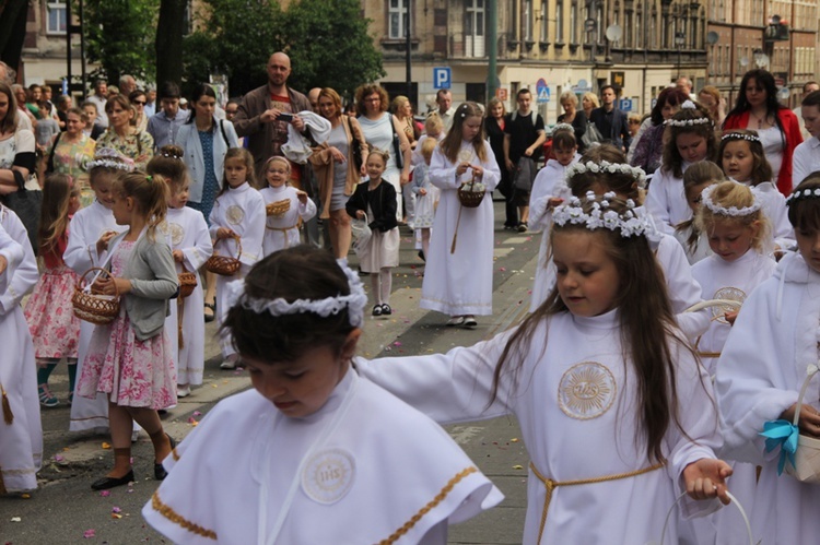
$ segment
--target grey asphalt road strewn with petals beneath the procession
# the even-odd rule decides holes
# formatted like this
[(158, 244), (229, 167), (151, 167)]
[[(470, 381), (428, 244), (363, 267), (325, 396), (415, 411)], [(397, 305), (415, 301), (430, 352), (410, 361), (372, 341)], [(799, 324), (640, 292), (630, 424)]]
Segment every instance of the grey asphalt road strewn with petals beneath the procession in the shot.
[[(479, 327), (470, 331), (445, 328), (446, 316), (419, 309), (424, 263), (417, 256), (409, 230), (401, 228), (401, 265), (394, 270), (390, 300), (394, 315), (367, 319), (360, 354), (377, 357), (446, 352), (453, 346), (471, 345), (519, 320), (529, 307), (540, 235), (503, 230), (503, 214), (502, 204), (496, 202), (492, 317), (479, 317)], [(365, 286), (370, 289), (366, 280)], [(213, 324), (208, 331), (215, 331)], [(166, 430), (177, 439), (183, 439), (219, 400), (250, 387), (244, 371), (220, 370), (214, 341), (209, 341), (206, 354), (204, 383), (164, 416)], [(157, 486), (152, 476), (151, 441), (143, 434), (133, 446), (137, 482), (132, 487), (115, 488), (105, 496), (91, 490), (90, 484), (112, 463), (113, 453), (106, 448), (110, 439), (68, 431), (68, 376), (63, 365), (52, 375), (51, 386), (62, 403), (42, 413), (45, 454), (39, 489), (30, 497), (0, 497), (0, 544), (166, 543), (140, 514)], [(450, 426), (448, 431), (506, 496), (500, 507), (453, 526), (449, 543), (520, 543), (528, 457), (515, 418)]]

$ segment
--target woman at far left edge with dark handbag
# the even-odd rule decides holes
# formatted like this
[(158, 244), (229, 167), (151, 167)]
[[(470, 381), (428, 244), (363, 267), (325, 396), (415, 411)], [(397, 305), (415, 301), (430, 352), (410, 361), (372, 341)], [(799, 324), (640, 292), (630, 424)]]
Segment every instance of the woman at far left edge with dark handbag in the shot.
[(32, 176), (37, 162), (34, 133), (20, 128), (20, 115), (11, 87), (0, 83), (0, 201), (20, 216), (36, 248), (43, 192)]

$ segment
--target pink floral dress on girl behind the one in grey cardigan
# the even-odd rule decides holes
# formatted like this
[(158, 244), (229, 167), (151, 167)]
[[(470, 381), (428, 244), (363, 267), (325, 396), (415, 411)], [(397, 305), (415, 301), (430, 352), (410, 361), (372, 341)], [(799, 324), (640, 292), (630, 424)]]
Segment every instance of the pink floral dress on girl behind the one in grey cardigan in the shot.
[(38, 359), (77, 358), (80, 319), (71, 309), (71, 296), (78, 276), (62, 261), (67, 245), (68, 230), (54, 250), (43, 252), (46, 269), (25, 306), (25, 321)]

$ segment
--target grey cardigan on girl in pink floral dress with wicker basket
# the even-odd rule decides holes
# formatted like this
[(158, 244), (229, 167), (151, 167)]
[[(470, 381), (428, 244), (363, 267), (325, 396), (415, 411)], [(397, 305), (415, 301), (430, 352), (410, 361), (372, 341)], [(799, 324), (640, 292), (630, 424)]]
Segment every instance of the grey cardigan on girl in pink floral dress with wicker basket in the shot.
[[(114, 250), (126, 233), (114, 237), (108, 247)], [(162, 333), (168, 316), (168, 299), (179, 286), (171, 247), (161, 233), (156, 236), (152, 241), (145, 234), (137, 241), (122, 274), (131, 281), (131, 292), (124, 295), (121, 301), (140, 341)]]

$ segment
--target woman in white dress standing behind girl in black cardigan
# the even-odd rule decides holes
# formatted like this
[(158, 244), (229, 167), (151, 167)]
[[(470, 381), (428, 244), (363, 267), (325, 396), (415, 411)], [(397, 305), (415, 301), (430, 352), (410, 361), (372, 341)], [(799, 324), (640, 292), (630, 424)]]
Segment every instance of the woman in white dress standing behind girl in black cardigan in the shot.
[[(389, 97), (380, 85), (362, 85), (355, 93), (359, 125), (362, 126), (364, 139), (371, 147), (387, 150), (390, 158), (382, 179), (389, 181), (396, 189), (396, 218), (400, 222), (401, 188), (410, 182), (410, 162), (412, 150), (407, 134), (401, 129), (396, 116), (387, 111)], [(362, 175), (365, 173), (363, 171)]]

